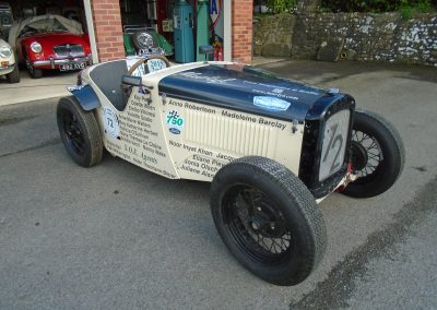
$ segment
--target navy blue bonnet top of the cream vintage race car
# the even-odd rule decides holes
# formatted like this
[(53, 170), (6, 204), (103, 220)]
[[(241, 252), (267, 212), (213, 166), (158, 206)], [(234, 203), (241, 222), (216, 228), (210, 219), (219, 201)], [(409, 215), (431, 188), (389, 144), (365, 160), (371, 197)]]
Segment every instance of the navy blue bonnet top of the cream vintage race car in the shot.
[(160, 81), (160, 94), (210, 106), (304, 121), (327, 91), (241, 64), (209, 64)]

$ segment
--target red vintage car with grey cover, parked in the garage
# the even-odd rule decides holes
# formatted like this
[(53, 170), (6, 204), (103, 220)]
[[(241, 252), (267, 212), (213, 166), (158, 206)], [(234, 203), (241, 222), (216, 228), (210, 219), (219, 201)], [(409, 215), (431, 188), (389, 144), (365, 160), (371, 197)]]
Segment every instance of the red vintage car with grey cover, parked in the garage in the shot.
[(12, 26), (9, 37), (33, 79), (43, 70), (81, 70), (92, 63), (90, 40), (82, 26), (60, 15), (43, 15)]

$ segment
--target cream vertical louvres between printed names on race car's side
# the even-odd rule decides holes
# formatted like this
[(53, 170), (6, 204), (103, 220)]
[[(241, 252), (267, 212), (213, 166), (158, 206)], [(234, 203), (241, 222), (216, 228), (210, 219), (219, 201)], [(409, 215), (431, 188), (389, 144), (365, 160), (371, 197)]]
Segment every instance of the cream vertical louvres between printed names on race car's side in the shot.
[(187, 142), (240, 155), (272, 156), (272, 128), (192, 110), (186, 119)]

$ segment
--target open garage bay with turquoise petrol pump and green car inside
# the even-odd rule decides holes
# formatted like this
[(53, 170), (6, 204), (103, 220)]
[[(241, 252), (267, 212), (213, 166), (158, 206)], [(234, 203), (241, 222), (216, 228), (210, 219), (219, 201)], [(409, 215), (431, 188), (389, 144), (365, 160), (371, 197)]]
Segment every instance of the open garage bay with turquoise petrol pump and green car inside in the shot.
[(120, 12), (128, 56), (162, 53), (192, 62), (204, 59), (200, 46), (212, 45), (211, 60), (224, 60), (224, 49), (231, 48), (231, 31), (228, 37), (224, 31), (231, 10), (222, 0), (120, 0)]

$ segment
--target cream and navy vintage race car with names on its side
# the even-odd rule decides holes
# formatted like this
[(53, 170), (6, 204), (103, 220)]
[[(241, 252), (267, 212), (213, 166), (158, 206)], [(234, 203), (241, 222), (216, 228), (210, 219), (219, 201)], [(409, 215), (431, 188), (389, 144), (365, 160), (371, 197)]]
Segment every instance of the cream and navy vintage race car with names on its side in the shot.
[(68, 154), (91, 167), (106, 148), (169, 179), (211, 182), (220, 236), (267, 282), (296, 285), (321, 261), (318, 202), (335, 190), (378, 195), (402, 171), (398, 131), (336, 90), (232, 62), (131, 62), (83, 70), (59, 100)]

